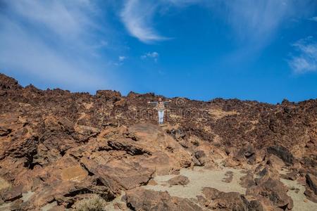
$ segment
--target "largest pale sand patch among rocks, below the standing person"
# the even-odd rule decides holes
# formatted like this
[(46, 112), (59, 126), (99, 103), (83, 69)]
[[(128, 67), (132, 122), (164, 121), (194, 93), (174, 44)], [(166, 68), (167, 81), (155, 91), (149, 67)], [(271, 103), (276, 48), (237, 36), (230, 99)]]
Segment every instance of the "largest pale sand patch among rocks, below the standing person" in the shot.
[[(223, 181), (225, 172), (231, 171), (232, 181), (227, 183)], [(144, 186), (144, 188), (154, 191), (168, 191), (170, 196), (178, 196), (180, 198), (196, 198), (202, 195), (202, 188), (211, 187), (223, 192), (238, 192), (245, 194), (246, 188), (240, 186), (240, 178), (244, 176), (240, 170), (225, 168), (223, 170), (205, 170), (203, 167), (194, 167), (194, 170), (182, 169), (180, 175), (184, 175), (189, 179), (186, 186), (167, 186), (168, 179), (175, 175), (164, 175), (154, 177), (157, 182), (156, 186)]]

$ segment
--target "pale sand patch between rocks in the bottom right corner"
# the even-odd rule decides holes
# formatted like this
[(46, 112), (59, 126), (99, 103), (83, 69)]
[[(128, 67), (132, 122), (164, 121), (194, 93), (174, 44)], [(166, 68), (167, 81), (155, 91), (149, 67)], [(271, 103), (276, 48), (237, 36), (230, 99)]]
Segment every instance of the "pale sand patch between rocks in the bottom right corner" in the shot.
[(296, 180), (292, 181), (288, 179), (280, 179), (280, 181), (290, 188), (290, 190), (287, 192), (287, 195), (290, 196), (294, 202), (293, 210), (317, 210), (317, 203), (307, 200), (306, 196), (304, 195), (305, 186), (298, 184)]

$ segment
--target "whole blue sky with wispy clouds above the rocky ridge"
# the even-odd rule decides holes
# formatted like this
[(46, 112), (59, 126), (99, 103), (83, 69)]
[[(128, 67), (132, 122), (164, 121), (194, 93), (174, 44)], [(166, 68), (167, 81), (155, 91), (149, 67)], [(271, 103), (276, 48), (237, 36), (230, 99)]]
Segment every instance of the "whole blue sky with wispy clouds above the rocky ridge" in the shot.
[(317, 98), (317, 1), (0, 0), (0, 72), (92, 94)]

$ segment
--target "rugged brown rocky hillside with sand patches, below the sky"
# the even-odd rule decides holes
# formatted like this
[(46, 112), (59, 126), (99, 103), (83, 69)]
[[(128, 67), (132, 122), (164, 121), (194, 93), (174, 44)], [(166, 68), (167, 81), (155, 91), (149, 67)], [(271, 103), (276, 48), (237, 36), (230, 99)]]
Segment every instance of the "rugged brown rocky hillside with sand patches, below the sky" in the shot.
[(71, 210), (95, 194), (108, 210), (316, 210), (317, 99), (171, 98), (159, 127), (147, 104), (159, 97), (0, 74), (0, 210)]

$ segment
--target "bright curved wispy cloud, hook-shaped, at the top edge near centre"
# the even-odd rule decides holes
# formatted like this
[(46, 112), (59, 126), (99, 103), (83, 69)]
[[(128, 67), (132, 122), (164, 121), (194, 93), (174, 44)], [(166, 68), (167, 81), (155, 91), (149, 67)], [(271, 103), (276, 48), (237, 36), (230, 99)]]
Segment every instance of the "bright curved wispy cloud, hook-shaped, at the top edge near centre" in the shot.
[(167, 39), (152, 27), (151, 19), (156, 11), (156, 4), (150, 1), (128, 0), (121, 11), (121, 20), (132, 37), (144, 43)]

